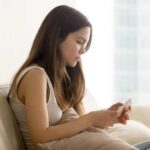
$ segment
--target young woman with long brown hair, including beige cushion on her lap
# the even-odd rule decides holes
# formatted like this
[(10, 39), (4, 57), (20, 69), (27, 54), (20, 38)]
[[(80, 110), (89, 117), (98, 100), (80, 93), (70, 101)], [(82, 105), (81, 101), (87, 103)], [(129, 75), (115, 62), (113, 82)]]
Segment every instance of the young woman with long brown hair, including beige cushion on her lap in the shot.
[(136, 149), (103, 131), (126, 124), (129, 110), (117, 117), (121, 103), (84, 112), (81, 55), (91, 39), (90, 22), (74, 8), (58, 6), (44, 19), (8, 94), (28, 150)]

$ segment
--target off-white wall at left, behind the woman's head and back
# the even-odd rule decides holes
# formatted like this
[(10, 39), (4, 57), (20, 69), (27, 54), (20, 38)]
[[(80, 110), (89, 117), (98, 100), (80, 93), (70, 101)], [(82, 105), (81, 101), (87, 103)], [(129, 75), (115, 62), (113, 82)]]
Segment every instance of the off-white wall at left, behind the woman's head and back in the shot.
[(61, 4), (75, 6), (75, 0), (0, 0), (0, 84), (11, 82), (42, 20)]

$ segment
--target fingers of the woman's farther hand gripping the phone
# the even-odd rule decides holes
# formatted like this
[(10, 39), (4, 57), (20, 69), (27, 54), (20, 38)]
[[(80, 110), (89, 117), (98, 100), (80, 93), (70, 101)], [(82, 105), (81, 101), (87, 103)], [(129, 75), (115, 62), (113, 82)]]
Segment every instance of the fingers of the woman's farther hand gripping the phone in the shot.
[[(117, 111), (120, 106), (122, 106), (123, 103), (116, 103), (112, 105), (108, 110)], [(129, 108), (124, 108), (121, 116), (118, 117), (118, 123), (126, 124), (127, 120), (129, 120), (129, 112), (131, 111), (131, 106)]]

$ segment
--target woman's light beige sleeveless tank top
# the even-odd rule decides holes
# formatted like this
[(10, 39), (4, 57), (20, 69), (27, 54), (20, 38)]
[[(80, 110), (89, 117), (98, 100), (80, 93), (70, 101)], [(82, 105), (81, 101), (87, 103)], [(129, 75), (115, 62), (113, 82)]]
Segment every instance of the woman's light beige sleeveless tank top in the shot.
[[(27, 68), (25, 68), (20, 75), (17, 78), (17, 84), (18, 86), (19, 81), (21, 78), (31, 69), (36, 68), (36, 69), (41, 69), (44, 70), (44, 68), (39, 67), (38, 65), (31, 65)], [(45, 70), (44, 70), (45, 72)], [(49, 116), (49, 125), (55, 125), (62, 117), (62, 111), (60, 107), (57, 104), (53, 86), (51, 84), (51, 81), (45, 72), (45, 75), (47, 77), (47, 83), (50, 89), (50, 95), (49, 99), (47, 102), (47, 109), (48, 109), (48, 116)], [(25, 105), (19, 100), (16, 91), (11, 91), (9, 95), (10, 99), (10, 106), (16, 116), (16, 120), (19, 126), (19, 130), (21, 131), (23, 140), (25, 142), (25, 146), (28, 150), (34, 149), (33, 143), (31, 142), (31, 138), (28, 133), (28, 127), (27, 127), (27, 121), (26, 121), (26, 108)]]

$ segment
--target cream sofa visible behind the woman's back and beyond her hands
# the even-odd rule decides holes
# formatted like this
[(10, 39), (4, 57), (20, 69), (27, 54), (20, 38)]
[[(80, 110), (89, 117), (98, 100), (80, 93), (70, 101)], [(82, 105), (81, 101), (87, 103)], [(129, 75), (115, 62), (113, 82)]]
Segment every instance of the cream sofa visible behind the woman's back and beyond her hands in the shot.
[[(18, 130), (14, 114), (6, 100), (7, 92), (8, 86), (0, 85), (0, 150), (23, 150), (24, 144), (21, 134)], [(108, 132), (114, 136), (126, 140), (131, 144), (134, 144), (137, 141), (141, 142), (143, 140), (150, 140), (150, 133), (148, 133), (150, 131), (150, 105), (133, 106), (130, 117), (132, 120), (142, 122), (143, 125), (141, 124), (139, 126), (137, 123), (138, 126), (136, 127), (135, 122), (130, 122), (129, 126), (115, 126), (109, 129)], [(136, 135), (130, 136), (130, 134), (132, 134), (133, 128), (135, 128), (133, 133)], [(132, 131), (130, 132), (130, 130)], [(126, 133), (128, 132), (128, 134), (126, 135), (124, 131), (126, 131)], [(144, 131), (144, 134), (141, 134), (142, 131)], [(138, 137), (138, 139), (136, 139), (136, 141), (132, 141), (132, 139), (135, 139), (136, 137)]]

